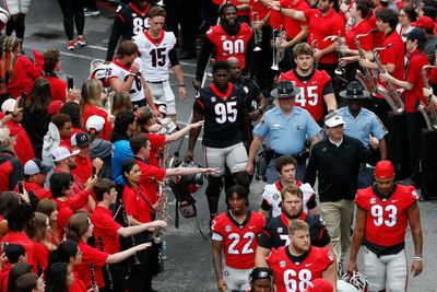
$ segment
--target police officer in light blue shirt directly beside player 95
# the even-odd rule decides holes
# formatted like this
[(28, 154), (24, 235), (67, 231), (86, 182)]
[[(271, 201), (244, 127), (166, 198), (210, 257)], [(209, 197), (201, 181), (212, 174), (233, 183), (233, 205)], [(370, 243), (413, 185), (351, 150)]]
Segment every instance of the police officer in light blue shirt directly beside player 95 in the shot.
[(267, 168), (269, 184), (279, 179), (274, 160), (284, 154), (297, 160), (296, 179), (302, 180), (305, 175), (305, 157), (302, 156), (305, 141), (307, 137), (312, 143), (319, 140), (318, 133), (321, 130), (319, 125), (306, 109), (294, 105), (294, 98), (299, 92), (300, 90), (294, 87), (292, 82), (280, 82), (277, 89), (270, 93), (271, 96), (277, 98), (277, 106), (267, 112), (253, 129), (246, 172), (253, 173), (255, 155), (262, 140), (269, 136), (272, 157)]

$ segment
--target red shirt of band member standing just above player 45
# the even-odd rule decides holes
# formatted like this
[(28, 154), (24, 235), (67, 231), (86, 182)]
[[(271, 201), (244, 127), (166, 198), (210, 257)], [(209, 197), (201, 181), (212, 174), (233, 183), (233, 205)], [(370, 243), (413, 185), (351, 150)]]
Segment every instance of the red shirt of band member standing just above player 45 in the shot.
[[(311, 45), (312, 40), (317, 39), (319, 49), (329, 47), (332, 42), (323, 42), (323, 38), (330, 35), (339, 35), (339, 32), (344, 36), (345, 23), (335, 10), (331, 10), (328, 14), (323, 15), (319, 9), (307, 9), (304, 15), (309, 24), (308, 44)], [(326, 54), (320, 58), (321, 63), (336, 63), (338, 52), (334, 50)]]

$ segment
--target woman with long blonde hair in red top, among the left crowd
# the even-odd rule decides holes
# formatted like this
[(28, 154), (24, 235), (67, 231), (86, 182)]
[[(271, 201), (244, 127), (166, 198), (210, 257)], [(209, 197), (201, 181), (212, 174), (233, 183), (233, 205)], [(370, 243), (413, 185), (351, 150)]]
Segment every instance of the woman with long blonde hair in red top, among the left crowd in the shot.
[(113, 131), (111, 119), (114, 116), (108, 116), (102, 105), (102, 82), (92, 79), (87, 80), (83, 83), (82, 86), (82, 98), (80, 102), (81, 106), (81, 116), (83, 118), (82, 125), (86, 125), (86, 120), (91, 116), (101, 116), (105, 119), (105, 126), (102, 130), (102, 138), (105, 140), (109, 140), (110, 133)]

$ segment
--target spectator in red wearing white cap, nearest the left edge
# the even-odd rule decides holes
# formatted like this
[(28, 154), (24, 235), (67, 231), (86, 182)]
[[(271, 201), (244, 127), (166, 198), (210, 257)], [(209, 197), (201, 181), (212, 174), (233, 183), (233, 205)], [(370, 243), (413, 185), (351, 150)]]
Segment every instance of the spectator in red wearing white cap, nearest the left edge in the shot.
[(23, 119), (23, 112), (19, 110), (16, 114), (14, 112), (16, 101), (13, 98), (7, 100), (1, 105), (1, 112), (4, 115), (12, 114), (12, 119), (4, 124), (9, 128), (10, 136), (15, 139), (14, 152), (16, 157), (20, 160), (21, 164), (25, 164), (27, 161), (35, 159), (35, 152), (32, 147), (31, 138), (24, 127), (20, 124)]

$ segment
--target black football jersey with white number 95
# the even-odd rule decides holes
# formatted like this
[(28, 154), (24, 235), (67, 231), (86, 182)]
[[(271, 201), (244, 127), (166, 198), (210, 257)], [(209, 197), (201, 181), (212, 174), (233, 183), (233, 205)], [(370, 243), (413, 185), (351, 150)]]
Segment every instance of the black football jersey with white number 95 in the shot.
[(245, 115), (245, 96), (229, 83), (225, 94), (214, 84), (200, 90), (193, 109), (204, 118), (203, 145), (227, 148), (243, 142), (240, 118)]

